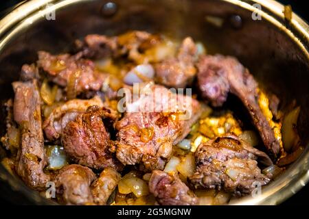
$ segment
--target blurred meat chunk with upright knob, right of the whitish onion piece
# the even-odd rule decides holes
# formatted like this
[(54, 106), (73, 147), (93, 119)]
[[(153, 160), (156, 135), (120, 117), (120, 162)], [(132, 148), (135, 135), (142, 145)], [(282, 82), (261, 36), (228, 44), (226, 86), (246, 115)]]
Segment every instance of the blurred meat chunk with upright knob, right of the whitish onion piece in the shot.
[(192, 38), (185, 38), (176, 58), (155, 65), (157, 82), (170, 88), (185, 88), (196, 75), (194, 67), (196, 57), (196, 44)]

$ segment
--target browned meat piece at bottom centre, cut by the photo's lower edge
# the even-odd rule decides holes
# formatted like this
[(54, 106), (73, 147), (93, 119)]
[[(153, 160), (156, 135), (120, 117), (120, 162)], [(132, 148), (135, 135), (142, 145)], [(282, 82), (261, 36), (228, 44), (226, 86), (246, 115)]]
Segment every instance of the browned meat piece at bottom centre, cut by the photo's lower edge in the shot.
[(178, 175), (161, 170), (153, 170), (149, 181), (149, 191), (160, 205), (196, 205), (198, 199), (183, 183)]

